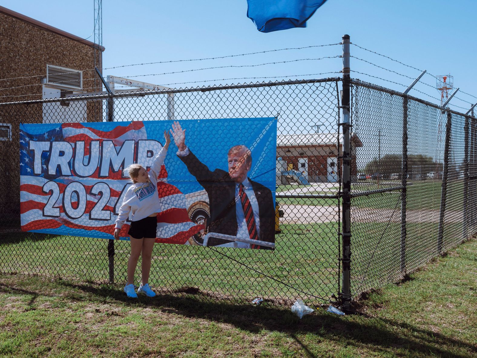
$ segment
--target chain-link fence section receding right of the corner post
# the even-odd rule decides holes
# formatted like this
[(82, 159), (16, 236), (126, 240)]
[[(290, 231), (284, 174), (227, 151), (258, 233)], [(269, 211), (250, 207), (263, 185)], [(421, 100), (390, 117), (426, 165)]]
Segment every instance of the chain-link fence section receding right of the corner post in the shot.
[[(476, 118), (353, 81), (353, 297), (476, 231)], [(353, 146), (353, 141), (352, 141)]]

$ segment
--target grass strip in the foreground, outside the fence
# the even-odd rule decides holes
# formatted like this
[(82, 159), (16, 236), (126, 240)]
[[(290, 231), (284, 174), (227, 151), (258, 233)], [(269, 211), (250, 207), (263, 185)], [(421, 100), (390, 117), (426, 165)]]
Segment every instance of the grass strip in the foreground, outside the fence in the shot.
[(121, 288), (0, 275), (0, 356), (450, 357), (477, 356), (477, 241), (468, 241), (355, 303), (320, 306), (211, 300), (200, 293), (136, 301)]

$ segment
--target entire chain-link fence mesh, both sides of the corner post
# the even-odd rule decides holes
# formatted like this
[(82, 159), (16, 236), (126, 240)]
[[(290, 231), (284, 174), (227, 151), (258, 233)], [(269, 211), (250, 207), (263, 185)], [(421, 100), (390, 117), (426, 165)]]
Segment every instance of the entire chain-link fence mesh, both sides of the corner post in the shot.
[[(276, 250), (155, 244), (150, 283), (159, 292), (328, 301), (342, 296), (341, 264), (351, 258), (347, 287), (356, 298), (476, 232), (476, 118), (352, 80), (343, 153), (340, 85), (328, 78), (0, 104), (0, 122), (10, 125), (0, 141), (0, 271), (123, 283), (130, 253), (123, 241), (21, 232), (20, 200), (29, 198), (19, 195), (20, 123), (277, 116)], [(345, 163), (351, 257), (341, 252), (350, 238), (342, 230)]]

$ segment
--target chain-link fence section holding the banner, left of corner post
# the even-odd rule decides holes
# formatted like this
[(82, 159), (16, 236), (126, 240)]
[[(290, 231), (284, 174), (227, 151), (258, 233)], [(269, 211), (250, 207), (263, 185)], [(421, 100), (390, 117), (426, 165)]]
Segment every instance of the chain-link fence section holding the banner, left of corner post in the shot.
[[(177, 295), (329, 300), (340, 291), (338, 84), (331, 78), (0, 104), (0, 122), (11, 124), (0, 141), (0, 271), (122, 284), (130, 253), (124, 241), (21, 232), (20, 200), (33, 199), (19, 195), (20, 123), (277, 116), (283, 216), (276, 250), (155, 244), (150, 284)], [(203, 145), (216, 152), (219, 142)]]

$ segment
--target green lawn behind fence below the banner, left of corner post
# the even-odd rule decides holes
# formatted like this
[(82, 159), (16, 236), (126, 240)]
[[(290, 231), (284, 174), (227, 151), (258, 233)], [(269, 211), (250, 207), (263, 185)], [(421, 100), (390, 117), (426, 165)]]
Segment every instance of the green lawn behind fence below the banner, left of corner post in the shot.
[[(193, 287), (216, 295), (246, 299), (259, 295), (279, 301), (306, 294), (324, 298), (336, 294), (337, 223), (282, 225), (281, 229), (275, 251), (155, 244), (150, 283), (169, 292)], [(0, 272), (106, 283), (107, 244), (104, 239), (24, 233), (0, 242)], [(115, 250), (115, 280), (123, 283), (129, 242), (116, 241)], [(140, 264), (138, 281), (139, 277)]]

